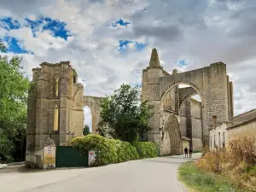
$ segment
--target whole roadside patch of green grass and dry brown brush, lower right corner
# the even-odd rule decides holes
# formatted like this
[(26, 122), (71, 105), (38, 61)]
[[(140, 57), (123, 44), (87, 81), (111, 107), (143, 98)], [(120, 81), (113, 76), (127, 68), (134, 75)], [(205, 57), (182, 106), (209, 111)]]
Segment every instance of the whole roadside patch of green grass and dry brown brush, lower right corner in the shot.
[(179, 169), (180, 179), (199, 191), (256, 191), (256, 139), (234, 137), (227, 148), (206, 151)]

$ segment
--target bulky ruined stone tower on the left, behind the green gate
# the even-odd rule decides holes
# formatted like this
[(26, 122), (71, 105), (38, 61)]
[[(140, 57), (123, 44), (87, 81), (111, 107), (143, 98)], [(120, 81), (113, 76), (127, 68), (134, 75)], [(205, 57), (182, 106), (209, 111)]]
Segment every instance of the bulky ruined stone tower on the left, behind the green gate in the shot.
[(43, 166), (44, 144), (67, 145), (82, 136), (84, 103), (82, 84), (69, 61), (42, 63), (32, 69), (27, 104), (26, 163)]

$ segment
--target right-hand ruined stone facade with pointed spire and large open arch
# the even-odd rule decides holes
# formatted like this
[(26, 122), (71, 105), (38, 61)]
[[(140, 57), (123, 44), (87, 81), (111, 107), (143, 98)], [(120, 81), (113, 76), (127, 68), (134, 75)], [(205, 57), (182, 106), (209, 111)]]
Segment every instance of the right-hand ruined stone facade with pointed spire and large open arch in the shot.
[[(178, 84), (188, 84), (190, 87), (182, 90), (178, 88)], [(223, 62), (212, 63), (209, 67), (184, 73), (177, 73), (177, 70), (174, 69), (173, 73), (170, 74), (160, 66), (157, 50), (153, 49), (149, 66), (143, 70), (142, 80), (142, 99), (143, 101), (148, 100), (148, 104), (154, 106), (152, 109), (154, 116), (148, 120), (148, 124), (153, 128), (152, 131), (148, 132), (148, 140), (158, 143), (161, 149), (165, 148), (164, 151), (160, 151), (160, 154), (165, 154), (166, 148), (172, 148), (172, 144), (170, 146), (172, 140), (177, 140), (176, 137), (181, 137), (184, 132), (190, 138), (193, 134), (195, 135), (196, 148), (200, 148), (201, 142), (203, 146), (208, 146), (208, 130), (212, 125), (212, 117), (216, 116), (218, 123), (222, 123), (233, 116), (232, 91), (232, 83)], [(194, 116), (191, 116), (190, 113), (190, 119), (186, 117), (188, 113), (185, 115), (186, 126), (190, 122), (192, 130), (184, 131), (181, 128), (181, 125), (185, 126), (184, 116), (181, 116), (181, 108), (189, 97), (196, 94), (201, 96), (201, 110), (199, 113), (195, 109), (194, 103), (192, 111), (197, 110), (198, 112), (195, 112)], [(175, 137), (174, 135), (165, 137), (165, 134), (170, 134), (166, 131), (168, 126), (170, 127), (166, 123), (166, 119), (171, 116), (177, 119), (177, 130), (180, 131), (180, 134)], [(171, 142), (163, 140), (169, 137)], [(166, 144), (169, 146), (163, 146)], [(190, 143), (190, 146), (192, 144)]]

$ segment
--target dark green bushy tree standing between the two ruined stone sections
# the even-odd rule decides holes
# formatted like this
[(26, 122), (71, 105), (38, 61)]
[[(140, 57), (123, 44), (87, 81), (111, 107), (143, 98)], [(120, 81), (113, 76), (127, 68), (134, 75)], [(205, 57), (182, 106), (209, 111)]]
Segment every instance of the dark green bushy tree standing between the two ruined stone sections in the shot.
[(138, 86), (122, 84), (113, 96), (106, 96), (101, 104), (98, 131), (122, 141), (133, 142), (150, 130), (148, 119), (152, 116), (148, 102), (141, 102)]

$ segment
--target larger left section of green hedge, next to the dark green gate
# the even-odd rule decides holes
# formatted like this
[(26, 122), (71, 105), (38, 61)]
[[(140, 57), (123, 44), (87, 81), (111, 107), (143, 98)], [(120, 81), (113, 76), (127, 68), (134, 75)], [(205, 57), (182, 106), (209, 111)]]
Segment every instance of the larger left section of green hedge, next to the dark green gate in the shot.
[(94, 150), (96, 152), (96, 166), (139, 159), (137, 149), (131, 143), (117, 139), (87, 135), (73, 138), (72, 143), (73, 148), (78, 149), (82, 154)]

